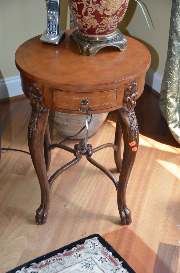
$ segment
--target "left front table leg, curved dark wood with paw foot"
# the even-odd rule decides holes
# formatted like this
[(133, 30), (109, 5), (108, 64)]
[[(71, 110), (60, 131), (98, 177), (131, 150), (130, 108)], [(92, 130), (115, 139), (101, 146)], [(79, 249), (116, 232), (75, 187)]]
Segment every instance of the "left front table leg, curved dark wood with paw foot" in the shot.
[[(44, 136), (48, 121), (49, 110), (41, 106), (42, 92), (33, 83), (28, 84), (32, 114), (28, 128), (28, 145), (32, 162), (41, 188), (41, 205), (36, 211), (36, 222), (45, 223), (48, 215), (50, 190), (44, 158)], [(48, 132), (46, 131), (45, 139)], [(47, 142), (47, 140), (45, 140)]]

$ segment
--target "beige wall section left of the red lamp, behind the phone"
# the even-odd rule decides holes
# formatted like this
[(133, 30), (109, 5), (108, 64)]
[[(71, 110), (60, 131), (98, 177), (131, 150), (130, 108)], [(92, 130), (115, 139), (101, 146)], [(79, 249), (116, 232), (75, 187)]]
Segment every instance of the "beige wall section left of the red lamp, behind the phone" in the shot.
[[(46, 29), (45, 0), (0, 0), (0, 79), (18, 76), (14, 55), (26, 40)], [(67, 0), (61, 0), (60, 29), (67, 28)]]

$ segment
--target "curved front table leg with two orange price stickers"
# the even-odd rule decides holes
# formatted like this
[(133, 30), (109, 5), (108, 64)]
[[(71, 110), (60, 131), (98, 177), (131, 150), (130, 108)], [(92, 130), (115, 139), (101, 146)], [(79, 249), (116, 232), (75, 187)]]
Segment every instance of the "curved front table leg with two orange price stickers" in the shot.
[(123, 160), (117, 188), (117, 205), (121, 223), (124, 225), (130, 224), (132, 221), (131, 211), (126, 206), (126, 188), (139, 143), (138, 124), (134, 112), (137, 94), (137, 84), (134, 82), (125, 91), (123, 108), (117, 110), (117, 118), (122, 129), (124, 141)]

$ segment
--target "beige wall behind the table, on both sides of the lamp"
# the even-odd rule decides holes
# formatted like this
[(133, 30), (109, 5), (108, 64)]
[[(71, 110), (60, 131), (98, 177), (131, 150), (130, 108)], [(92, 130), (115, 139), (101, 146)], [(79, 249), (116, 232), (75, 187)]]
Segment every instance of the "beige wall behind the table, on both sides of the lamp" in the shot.
[[(151, 68), (163, 75), (169, 35), (169, 22), (172, 0), (143, 0), (147, 6), (148, 21), (145, 21), (141, 8), (134, 0), (130, 4), (119, 28), (144, 43), (151, 52)], [(0, 79), (18, 76), (15, 67), (15, 51), (24, 41), (42, 34), (46, 28), (45, 0), (0, 0)], [(3, 11), (3, 12), (2, 12)], [(61, 0), (60, 29), (69, 28), (67, 0)], [(3, 27), (2, 27), (3, 26)], [(153, 27), (154, 26), (154, 27)]]

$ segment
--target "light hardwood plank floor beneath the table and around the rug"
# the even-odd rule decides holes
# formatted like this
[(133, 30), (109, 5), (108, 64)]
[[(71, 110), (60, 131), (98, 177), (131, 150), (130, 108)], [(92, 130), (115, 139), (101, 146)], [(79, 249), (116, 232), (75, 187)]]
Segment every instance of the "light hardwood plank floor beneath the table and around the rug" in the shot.
[[(2, 153), (0, 161), (0, 272), (80, 238), (99, 233), (137, 273), (180, 272), (180, 146), (159, 111), (159, 98), (145, 90), (135, 107), (139, 149), (129, 179), (126, 202), (132, 224), (120, 224), (113, 182), (83, 158), (62, 173), (51, 188), (46, 224), (35, 223), (41, 192), (30, 155)], [(1, 103), (2, 148), (10, 145), (25, 113), (27, 98)], [(29, 151), (30, 112), (11, 148)], [(89, 143), (96, 147), (114, 141), (116, 112)], [(50, 124), (51, 125), (51, 124)], [(50, 126), (52, 142), (63, 137)], [(77, 140), (67, 140), (73, 147)], [(5, 151), (2, 151), (5, 152)], [(63, 156), (62, 156), (63, 155)], [(54, 149), (48, 176), (73, 155)], [(113, 149), (93, 158), (118, 177)]]

